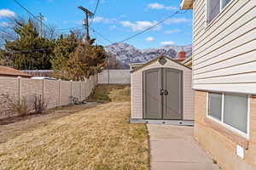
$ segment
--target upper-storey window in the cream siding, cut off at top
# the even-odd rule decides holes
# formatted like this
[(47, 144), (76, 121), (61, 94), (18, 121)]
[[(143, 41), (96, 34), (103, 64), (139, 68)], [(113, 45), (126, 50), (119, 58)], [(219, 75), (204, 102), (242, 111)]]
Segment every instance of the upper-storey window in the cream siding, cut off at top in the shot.
[(231, 0), (207, 0), (207, 23), (210, 23)]

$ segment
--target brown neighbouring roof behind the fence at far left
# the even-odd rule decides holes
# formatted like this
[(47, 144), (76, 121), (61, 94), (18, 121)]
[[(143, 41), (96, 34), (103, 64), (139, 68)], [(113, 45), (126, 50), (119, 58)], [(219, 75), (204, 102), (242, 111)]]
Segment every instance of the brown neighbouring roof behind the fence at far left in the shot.
[(32, 75), (26, 74), (22, 71), (18, 71), (16, 69), (7, 67), (7, 66), (0, 66), (0, 77), (26, 77), (30, 78)]

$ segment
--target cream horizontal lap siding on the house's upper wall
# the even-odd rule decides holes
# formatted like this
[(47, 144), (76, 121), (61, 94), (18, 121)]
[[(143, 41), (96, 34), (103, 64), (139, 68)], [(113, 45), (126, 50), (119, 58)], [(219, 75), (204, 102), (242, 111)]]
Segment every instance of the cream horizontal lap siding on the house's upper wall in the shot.
[(207, 24), (194, 3), (193, 88), (256, 94), (256, 1), (232, 0)]

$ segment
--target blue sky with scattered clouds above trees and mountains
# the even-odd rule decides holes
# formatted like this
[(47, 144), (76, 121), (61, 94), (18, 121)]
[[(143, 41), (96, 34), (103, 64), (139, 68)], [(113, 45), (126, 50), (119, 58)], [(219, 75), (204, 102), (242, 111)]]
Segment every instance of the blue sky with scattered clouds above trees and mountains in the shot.
[[(96, 0), (18, 1), (32, 14), (44, 14), (44, 23), (55, 25), (56, 29), (81, 26), (84, 14), (78, 6), (91, 11), (96, 7)], [(100, 0), (92, 28), (112, 42), (119, 42), (172, 15), (179, 9), (179, 3), (180, 0)], [(10, 15), (28, 17), (26, 11), (13, 0), (1, 0), (0, 26), (5, 24), (6, 17)], [(127, 42), (137, 48), (159, 48), (167, 44), (187, 45), (191, 43), (191, 34), (192, 14), (189, 10)], [(91, 32), (91, 37), (96, 37), (97, 43), (102, 45), (110, 43), (94, 32)]]

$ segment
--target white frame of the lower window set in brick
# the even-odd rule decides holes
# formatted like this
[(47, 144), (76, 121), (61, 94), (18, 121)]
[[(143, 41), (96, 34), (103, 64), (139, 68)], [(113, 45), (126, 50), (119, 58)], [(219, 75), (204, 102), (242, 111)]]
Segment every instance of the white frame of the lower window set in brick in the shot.
[[(211, 93), (222, 95), (221, 121), (219, 121), (217, 118), (209, 115), (209, 94), (211, 94)], [(230, 93), (218, 93), (218, 92), (208, 92), (207, 93), (207, 118), (211, 119), (214, 122), (217, 122), (218, 124), (220, 124), (223, 127), (230, 129), (232, 132), (237, 133), (246, 139), (250, 139), (250, 101), (251, 101), (251, 96), (247, 94), (247, 133), (244, 133), (241, 130), (237, 129), (236, 127), (232, 127), (224, 122), (224, 95), (225, 94), (229, 95)]]

